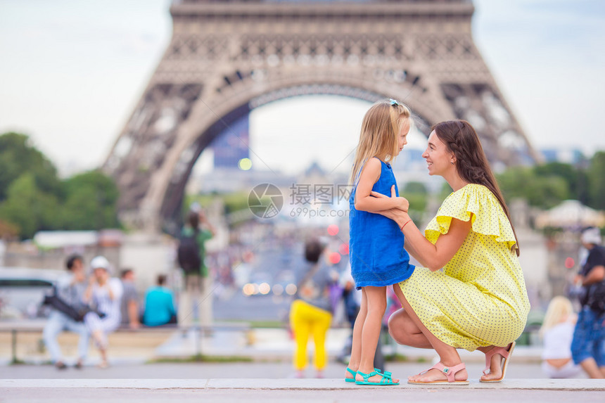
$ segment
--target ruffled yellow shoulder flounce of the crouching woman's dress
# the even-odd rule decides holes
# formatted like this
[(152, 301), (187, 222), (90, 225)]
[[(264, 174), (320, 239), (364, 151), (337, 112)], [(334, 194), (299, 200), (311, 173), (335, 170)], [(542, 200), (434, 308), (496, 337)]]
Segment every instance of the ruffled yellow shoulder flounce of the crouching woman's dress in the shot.
[(496, 196), (483, 185), (468, 184), (447, 196), (437, 215), (424, 230), (426, 239), (434, 244), (441, 234), (447, 234), (452, 218), (461, 221), (470, 219), (472, 231), (494, 236), (496, 241), (507, 243), (508, 248), (516, 243), (511, 223), (502, 206)]

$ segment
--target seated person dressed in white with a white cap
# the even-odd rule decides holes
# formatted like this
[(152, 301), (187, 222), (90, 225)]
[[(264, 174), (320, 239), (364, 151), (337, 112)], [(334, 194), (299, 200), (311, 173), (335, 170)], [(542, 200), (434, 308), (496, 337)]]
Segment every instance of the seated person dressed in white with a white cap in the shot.
[[(89, 286), (84, 293), (84, 300), (96, 305), (97, 312), (89, 312), (84, 316), (84, 324), (101, 352), (99, 368), (107, 368), (107, 335), (120, 326), (120, 300), (122, 298), (122, 283), (112, 278), (110, 264), (103, 256), (94, 257), (90, 262), (92, 276)], [(104, 315), (104, 316), (103, 316)]]

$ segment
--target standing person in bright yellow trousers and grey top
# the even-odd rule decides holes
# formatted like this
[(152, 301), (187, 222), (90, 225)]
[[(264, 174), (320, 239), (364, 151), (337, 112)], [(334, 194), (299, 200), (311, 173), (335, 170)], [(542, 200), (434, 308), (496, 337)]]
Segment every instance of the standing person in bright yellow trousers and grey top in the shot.
[(321, 259), (325, 245), (319, 239), (305, 243), (305, 268), (300, 273), (298, 290), (290, 308), (290, 326), (294, 333), (295, 377), (304, 378), (307, 367), (307, 342), (312, 336), (315, 344), (313, 364), (317, 378), (323, 378), (328, 357), (326, 333), (332, 321), (329, 286), (335, 283), (326, 262)]

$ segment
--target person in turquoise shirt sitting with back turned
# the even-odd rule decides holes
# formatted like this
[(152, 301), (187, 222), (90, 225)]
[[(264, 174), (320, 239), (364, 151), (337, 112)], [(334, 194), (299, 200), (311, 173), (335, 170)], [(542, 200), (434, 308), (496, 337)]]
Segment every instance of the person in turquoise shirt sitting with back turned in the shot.
[(145, 295), (145, 313), (143, 324), (145, 326), (162, 326), (176, 324), (177, 313), (174, 311), (174, 296), (172, 291), (165, 287), (166, 276), (158, 275), (156, 286), (147, 290)]

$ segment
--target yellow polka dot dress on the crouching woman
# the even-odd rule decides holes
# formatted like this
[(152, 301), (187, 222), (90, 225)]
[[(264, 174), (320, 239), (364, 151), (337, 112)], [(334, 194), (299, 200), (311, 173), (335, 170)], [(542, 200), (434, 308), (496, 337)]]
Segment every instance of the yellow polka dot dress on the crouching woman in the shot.
[(515, 237), (493, 193), (469, 184), (448, 196), (424, 231), (431, 243), (447, 234), (452, 218), (472, 228), (445, 267), (416, 267), (400, 283), (422, 323), (439, 340), (469, 351), (506, 346), (525, 328), (530, 304), (523, 271), (511, 246)]

